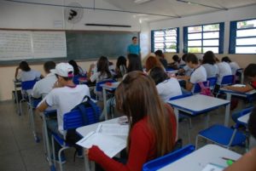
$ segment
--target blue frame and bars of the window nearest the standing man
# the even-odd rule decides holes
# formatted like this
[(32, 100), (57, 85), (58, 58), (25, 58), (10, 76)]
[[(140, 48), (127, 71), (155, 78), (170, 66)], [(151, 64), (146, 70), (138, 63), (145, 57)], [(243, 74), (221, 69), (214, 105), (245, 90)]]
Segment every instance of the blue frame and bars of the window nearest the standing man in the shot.
[[(176, 52), (166, 52), (166, 50), (165, 50), (166, 48), (163, 49), (163, 52), (164, 53), (176, 53), (176, 54), (179, 53), (179, 27), (152, 30), (151, 31), (151, 52), (154, 53), (154, 51), (156, 50), (156, 49), (154, 49), (154, 31), (169, 31), (169, 30), (173, 30), (173, 29), (176, 29)], [(170, 42), (170, 43), (172, 43), (172, 42)]]

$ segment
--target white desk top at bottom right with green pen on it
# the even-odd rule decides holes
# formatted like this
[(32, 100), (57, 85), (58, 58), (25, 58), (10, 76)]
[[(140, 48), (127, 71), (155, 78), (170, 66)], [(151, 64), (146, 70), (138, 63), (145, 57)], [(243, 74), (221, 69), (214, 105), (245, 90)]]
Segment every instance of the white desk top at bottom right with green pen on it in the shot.
[(160, 168), (159, 171), (201, 171), (210, 162), (227, 167), (226, 160), (222, 157), (237, 160), (241, 155), (218, 145), (205, 145), (188, 156)]

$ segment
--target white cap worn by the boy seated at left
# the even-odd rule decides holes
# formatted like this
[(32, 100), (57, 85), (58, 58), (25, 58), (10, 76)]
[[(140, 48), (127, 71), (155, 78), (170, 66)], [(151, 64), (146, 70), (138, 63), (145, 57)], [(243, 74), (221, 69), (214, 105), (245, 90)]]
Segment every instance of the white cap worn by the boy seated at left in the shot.
[(73, 77), (73, 66), (68, 63), (60, 63), (50, 71), (61, 77)]

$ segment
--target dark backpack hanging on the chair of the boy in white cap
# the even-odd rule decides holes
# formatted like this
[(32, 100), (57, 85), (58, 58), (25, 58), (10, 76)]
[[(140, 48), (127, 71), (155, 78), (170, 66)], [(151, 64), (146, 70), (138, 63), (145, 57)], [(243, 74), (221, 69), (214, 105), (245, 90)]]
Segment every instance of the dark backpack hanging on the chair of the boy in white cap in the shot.
[[(79, 105), (76, 105), (75, 107), (73, 107), (71, 111), (77, 111), (77, 110), (80, 111), (81, 113), (81, 117), (83, 121), (81, 126), (89, 125), (92, 123), (98, 123), (100, 115), (102, 113), (100, 107), (97, 106), (94, 101), (90, 100), (90, 97), (87, 95), (85, 95), (82, 102), (79, 103)], [(80, 148), (79, 145), (76, 145), (76, 142), (78, 142), (81, 139), (82, 138), (79, 136), (79, 134), (76, 133), (76, 128), (67, 129), (67, 135), (66, 135), (65, 141), (68, 143), (68, 145), (76, 148), (74, 156), (76, 155), (76, 152)]]

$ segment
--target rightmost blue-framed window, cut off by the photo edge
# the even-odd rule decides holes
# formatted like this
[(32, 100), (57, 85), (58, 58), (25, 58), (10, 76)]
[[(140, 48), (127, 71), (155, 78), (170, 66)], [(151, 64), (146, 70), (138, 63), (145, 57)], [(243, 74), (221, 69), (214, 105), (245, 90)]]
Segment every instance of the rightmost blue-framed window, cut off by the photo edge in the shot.
[(230, 22), (230, 54), (256, 54), (256, 20)]

